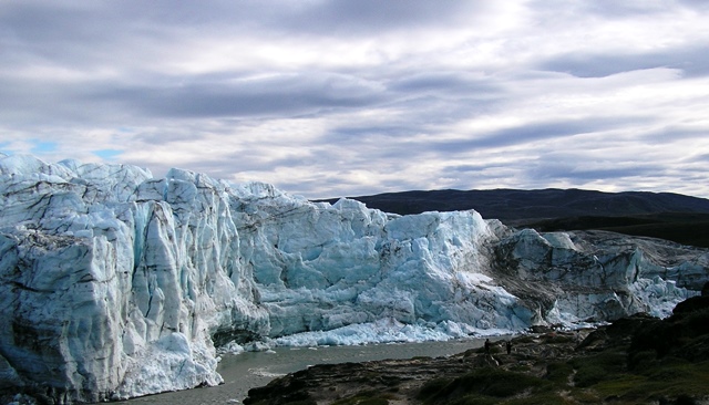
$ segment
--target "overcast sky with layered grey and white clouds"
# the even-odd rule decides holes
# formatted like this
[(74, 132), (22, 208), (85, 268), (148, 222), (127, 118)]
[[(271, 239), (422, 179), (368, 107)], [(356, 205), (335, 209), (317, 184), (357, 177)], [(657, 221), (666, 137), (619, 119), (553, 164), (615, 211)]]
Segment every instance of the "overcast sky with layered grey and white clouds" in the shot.
[(703, 0), (0, 0), (0, 152), (709, 198)]

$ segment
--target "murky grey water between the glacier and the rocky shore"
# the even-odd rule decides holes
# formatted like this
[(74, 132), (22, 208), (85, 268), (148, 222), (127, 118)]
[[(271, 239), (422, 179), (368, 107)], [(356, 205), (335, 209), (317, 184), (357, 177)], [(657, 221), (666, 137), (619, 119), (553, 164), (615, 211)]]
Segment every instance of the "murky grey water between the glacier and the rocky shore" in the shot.
[(224, 384), (219, 386), (150, 395), (117, 404), (240, 404), (249, 388), (264, 386), (280, 375), (304, 370), (310, 365), (367, 362), (384, 359), (410, 359), (415, 356), (438, 357), (462, 353), (469, 349), (481, 347), (484, 341), (484, 339), (470, 339), (449, 342), (327, 346), (317, 349), (277, 347), (273, 352), (246, 352), (236, 355), (225, 355), (217, 367), (217, 371), (224, 377)]

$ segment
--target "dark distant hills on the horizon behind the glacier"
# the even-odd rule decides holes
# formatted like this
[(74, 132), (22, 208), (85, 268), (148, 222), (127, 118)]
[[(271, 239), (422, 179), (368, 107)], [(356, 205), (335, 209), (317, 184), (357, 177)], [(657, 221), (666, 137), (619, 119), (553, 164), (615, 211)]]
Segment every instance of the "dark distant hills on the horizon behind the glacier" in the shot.
[[(349, 197), (400, 215), (474, 209), (541, 231), (602, 229), (709, 247), (709, 199), (674, 193), (583, 189), (430, 190)], [(327, 199), (335, 202), (337, 199)]]

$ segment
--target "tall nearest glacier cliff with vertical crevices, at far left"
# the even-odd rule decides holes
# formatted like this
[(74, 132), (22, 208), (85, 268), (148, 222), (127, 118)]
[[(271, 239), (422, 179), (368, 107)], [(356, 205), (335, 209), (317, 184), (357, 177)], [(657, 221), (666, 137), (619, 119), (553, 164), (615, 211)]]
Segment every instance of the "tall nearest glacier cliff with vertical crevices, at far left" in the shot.
[(215, 385), (213, 336), (266, 333), (225, 184), (30, 156), (0, 174), (1, 386), (97, 402)]

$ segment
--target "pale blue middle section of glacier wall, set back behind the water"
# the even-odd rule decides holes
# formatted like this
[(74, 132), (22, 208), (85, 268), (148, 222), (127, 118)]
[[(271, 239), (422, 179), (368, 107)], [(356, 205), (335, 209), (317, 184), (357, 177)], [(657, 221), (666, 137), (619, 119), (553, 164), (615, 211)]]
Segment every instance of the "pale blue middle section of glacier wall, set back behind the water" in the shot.
[(502, 227), (475, 211), (387, 216), (353, 200), (312, 205), (255, 187), (240, 196), (239, 236), (251, 247), (245, 259), (271, 336), (382, 318), (453, 321), (470, 332), (533, 322), (493, 281), (491, 246)]

